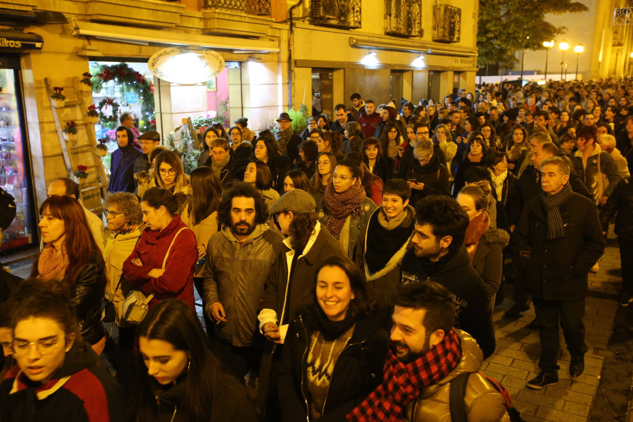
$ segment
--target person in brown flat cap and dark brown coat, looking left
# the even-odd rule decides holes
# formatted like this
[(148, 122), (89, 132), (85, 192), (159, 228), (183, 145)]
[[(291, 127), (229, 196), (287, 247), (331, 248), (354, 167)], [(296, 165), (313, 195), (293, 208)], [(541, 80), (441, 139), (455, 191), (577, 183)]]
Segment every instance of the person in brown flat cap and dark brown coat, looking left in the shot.
[(266, 402), (268, 420), (275, 420), (271, 416), (278, 411), (275, 365), (288, 323), (314, 289), (316, 268), (330, 256), (345, 255), (339, 241), (318, 221), (315, 209), (312, 195), (301, 189), (286, 192), (268, 209), (281, 232), (288, 235), (268, 273), (258, 316), (261, 333), (270, 340), (264, 347), (257, 400), (260, 409)]

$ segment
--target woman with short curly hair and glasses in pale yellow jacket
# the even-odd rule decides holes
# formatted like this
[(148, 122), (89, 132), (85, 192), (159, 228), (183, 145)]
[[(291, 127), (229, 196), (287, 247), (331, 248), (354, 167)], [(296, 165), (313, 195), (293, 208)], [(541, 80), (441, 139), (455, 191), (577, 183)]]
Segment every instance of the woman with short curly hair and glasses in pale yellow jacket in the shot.
[(118, 328), (116, 378), (127, 389), (130, 387), (130, 369), (134, 361), (135, 327), (122, 320), (123, 302), (132, 290), (132, 285), (123, 277), (123, 262), (134, 251), (145, 226), (141, 203), (134, 194), (114, 192), (106, 197), (103, 209), (108, 220), (106, 247), (103, 250), (107, 280), (105, 299), (112, 304), (110, 309), (113, 311), (113, 315), (106, 315), (104, 321), (112, 322)]

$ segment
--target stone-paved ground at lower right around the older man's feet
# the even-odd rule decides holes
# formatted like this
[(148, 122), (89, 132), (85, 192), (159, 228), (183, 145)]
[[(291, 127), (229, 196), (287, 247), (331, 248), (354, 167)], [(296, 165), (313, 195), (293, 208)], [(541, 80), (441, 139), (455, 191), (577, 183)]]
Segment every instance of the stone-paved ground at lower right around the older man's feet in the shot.
[[(572, 380), (569, 376), (570, 356), (561, 331), (562, 356), (558, 361), (560, 381), (540, 391), (525, 387), (525, 383), (539, 371), (539, 332), (530, 330), (528, 326), (534, 320), (534, 307), (530, 305), (530, 310), (523, 313), (519, 320), (502, 318), (504, 311), (512, 304), (511, 291), (506, 290), (505, 301), (494, 309), (497, 348), (484, 362), (482, 371), (494, 376), (508, 388), (525, 421), (587, 421), (605, 357), (613, 357), (613, 352), (607, 350), (607, 342), (618, 307), (617, 294), (622, 286), (620, 250), (613, 235), (613, 227), (609, 237), (598, 273), (589, 273), (590, 292), (584, 318), (585, 341), (589, 351), (585, 357), (585, 371), (579, 378)], [(622, 414), (622, 419), (618, 420), (624, 418)]]

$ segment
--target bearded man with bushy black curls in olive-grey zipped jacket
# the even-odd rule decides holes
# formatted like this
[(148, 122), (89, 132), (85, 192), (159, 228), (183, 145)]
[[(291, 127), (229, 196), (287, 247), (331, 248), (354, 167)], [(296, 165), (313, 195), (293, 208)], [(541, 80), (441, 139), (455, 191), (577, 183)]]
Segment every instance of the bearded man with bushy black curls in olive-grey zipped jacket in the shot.
[(204, 311), (216, 321), (213, 351), (240, 380), (260, 363), (257, 313), (283, 240), (266, 224), (267, 209), (254, 187), (235, 182), (218, 205), (219, 230), (206, 248)]

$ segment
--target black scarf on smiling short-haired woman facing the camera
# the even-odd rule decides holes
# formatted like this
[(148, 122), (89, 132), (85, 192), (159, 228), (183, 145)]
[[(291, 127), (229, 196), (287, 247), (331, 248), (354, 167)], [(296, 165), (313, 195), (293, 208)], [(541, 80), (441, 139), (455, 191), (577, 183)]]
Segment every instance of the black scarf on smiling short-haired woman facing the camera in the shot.
[[(372, 214), (367, 227), (365, 263), (367, 263), (367, 269), (372, 274), (385, 268), (389, 259), (399, 251), (403, 244), (408, 242), (415, 225), (415, 219), (411, 218), (410, 224), (399, 225), (393, 230), (387, 230), (378, 221), (378, 214), (381, 212), (377, 211)], [(404, 208), (403, 212), (408, 213), (409, 211)]]

